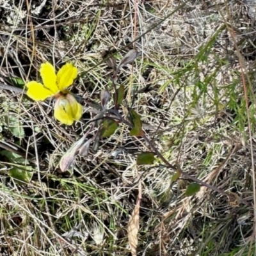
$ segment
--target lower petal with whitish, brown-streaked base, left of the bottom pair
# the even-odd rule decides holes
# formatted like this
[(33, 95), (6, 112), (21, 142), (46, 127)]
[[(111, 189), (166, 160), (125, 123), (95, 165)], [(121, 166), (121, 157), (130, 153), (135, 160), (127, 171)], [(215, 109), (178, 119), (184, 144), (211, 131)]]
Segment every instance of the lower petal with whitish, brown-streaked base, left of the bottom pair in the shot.
[(60, 97), (56, 100), (54, 106), (54, 117), (62, 124), (72, 125), (74, 118), (72, 116), (72, 109), (65, 97)]

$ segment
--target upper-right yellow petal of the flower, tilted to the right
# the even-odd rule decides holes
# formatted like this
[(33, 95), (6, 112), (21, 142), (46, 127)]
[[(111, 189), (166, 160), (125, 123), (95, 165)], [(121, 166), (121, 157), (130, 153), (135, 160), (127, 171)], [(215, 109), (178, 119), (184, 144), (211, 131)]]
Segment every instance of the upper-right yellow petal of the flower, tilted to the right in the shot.
[(57, 84), (58, 88), (63, 91), (70, 86), (77, 77), (77, 68), (72, 63), (67, 63), (58, 71)]

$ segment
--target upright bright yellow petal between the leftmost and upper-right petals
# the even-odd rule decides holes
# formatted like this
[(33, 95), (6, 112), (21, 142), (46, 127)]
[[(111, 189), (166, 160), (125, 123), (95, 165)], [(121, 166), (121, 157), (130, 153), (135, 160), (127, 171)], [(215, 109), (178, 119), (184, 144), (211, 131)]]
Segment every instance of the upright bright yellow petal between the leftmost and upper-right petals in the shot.
[(51, 63), (46, 62), (41, 65), (40, 75), (43, 79), (43, 83), (46, 88), (51, 90), (51, 92), (54, 94), (59, 92), (55, 68), (51, 65)]

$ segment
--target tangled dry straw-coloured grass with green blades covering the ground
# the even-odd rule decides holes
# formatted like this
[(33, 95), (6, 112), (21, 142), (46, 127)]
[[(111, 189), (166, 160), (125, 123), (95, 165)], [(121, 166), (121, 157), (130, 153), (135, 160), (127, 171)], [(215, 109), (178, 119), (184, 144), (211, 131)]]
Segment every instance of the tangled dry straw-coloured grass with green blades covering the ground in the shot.
[[(172, 183), (173, 170), (160, 160), (151, 168), (137, 166), (136, 154), (149, 147), (125, 125), (100, 140), (97, 152), (78, 156), (70, 172), (58, 168), (96, 116), (88, 100), (99, 102), (106, 86), (113, 92), (112, 70), (102, 58), (114, 54), (120, 61), (132, 48), (125, 45), (178, 2), (47, 0), (39, 6), (0, 0), (0, 83), (22, 87), (22, 81), (39, 79), (42, 62), (60, 68), (72, 61), (80, 72), (72, 92), (84, 106), (83, 122), (67, 127), (54, 120), (51, 100), (32, 102), (0, 90), (0, 255), (129, 255), (127, 224), (139, 179), (138, 255), (255, 253), (256, 38), (239, 1), (188, 1), (134, 43), (142, 55), (116, 81), (125, 85), (128, 104), (134, 100), (146, 135), (169, 163), (232, 198), (205, 187), (186, 197), (191, 180)], [(145, 88), (150, 90), (133, 99)], [(19, 120), (24, 138), (13, 136), (10, 116)], [(10, 177), (15, 166), (29, 166), (31, 182)]]

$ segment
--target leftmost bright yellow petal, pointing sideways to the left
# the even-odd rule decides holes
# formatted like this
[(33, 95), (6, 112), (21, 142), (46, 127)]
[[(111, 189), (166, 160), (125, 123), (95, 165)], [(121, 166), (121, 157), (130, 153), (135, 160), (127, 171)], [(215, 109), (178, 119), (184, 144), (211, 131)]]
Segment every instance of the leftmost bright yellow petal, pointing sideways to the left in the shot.
[(54, 93), (45, 88), (43, 84), (37, 83), (36, 81), (28, 82), (26, 86), (28, 87), (27, 95), (33, 100), (45, 100), (54, 95)]

